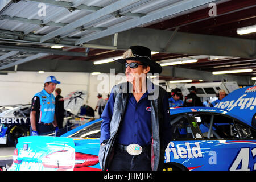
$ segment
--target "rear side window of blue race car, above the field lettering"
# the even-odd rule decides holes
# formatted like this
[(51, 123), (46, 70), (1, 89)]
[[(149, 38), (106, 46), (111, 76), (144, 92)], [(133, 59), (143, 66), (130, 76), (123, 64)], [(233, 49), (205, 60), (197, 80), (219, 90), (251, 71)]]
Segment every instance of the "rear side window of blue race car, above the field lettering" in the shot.
[(181, 114), (171, 116), (171, 126), (172, 139), (179, 140), (194, 138), (191, 130), (191, 125), (188, 122), (187, 115)]

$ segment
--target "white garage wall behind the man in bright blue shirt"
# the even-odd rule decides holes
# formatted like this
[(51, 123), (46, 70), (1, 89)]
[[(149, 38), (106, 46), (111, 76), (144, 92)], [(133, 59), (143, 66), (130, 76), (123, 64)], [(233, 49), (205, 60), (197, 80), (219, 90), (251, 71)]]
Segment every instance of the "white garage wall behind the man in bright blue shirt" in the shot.
[(103, 98), (106, 98), (112, 86), (123, 81), (123, 77), (115, 78), (115, 75), (112, 75), (112, 81), (110, 81), (110, 74), (99, 76), (91, 75), (90, 73), (73, 72), (8, 73), (8, 75), (0, 75), (0, 106), (31, 104), (32, 97), (43, 89), (43, 82), (50, 75), (55, 76), (61, 82), (61, 84), (57, 84), (56, 88), (62, 90), (61, 96), (63, 97), (75, 90), (87, 90), (88, 97), (84, 104), (91, 106), (93, 109), (97, 104), (98, 93), (101, 93)]

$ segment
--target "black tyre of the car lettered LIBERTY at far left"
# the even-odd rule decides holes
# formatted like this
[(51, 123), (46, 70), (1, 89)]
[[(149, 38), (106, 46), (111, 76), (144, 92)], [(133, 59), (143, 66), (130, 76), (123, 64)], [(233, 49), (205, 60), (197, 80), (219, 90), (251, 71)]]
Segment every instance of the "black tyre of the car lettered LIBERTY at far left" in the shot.
[(11, 127), (7, 135), (7, 146), (15, 146), (19, 137), (30, 136), (30, 130), (26, 126), (15, 125)]

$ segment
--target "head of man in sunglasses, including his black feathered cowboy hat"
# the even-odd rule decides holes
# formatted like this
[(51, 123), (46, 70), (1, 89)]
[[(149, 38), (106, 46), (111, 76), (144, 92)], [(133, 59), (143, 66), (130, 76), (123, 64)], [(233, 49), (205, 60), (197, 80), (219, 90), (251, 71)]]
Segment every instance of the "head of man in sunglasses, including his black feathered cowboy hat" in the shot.
[(151, 50), (144, 46), (131, 46), (123, 53), (123, 58), (115, 60), (125, 65), (127, 81), (134, 82), (139, 78), (146, 78), (147, 73), (161, 73), (162, 67), (151, 60)]

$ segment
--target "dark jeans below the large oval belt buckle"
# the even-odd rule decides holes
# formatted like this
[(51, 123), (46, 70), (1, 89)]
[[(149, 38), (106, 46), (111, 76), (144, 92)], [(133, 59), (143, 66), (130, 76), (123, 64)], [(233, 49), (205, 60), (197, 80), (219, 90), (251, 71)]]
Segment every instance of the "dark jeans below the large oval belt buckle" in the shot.
[(130, 155), (127, 151), (115, 148), (109, 171), (151, 171), (150, 151)]

